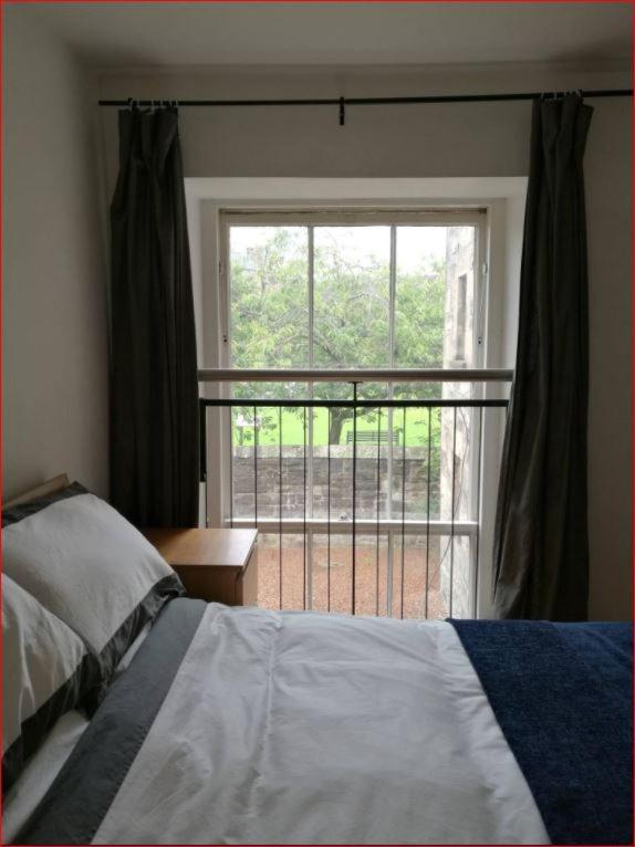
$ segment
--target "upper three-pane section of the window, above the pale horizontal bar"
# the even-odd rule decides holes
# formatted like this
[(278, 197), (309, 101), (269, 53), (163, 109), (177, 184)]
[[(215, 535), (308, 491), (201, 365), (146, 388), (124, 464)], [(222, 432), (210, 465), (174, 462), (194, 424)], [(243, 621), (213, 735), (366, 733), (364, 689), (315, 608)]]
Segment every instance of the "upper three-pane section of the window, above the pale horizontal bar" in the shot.
[(478, 211), (223, 212), (226, 365), (472, 365), (485, 222)]

